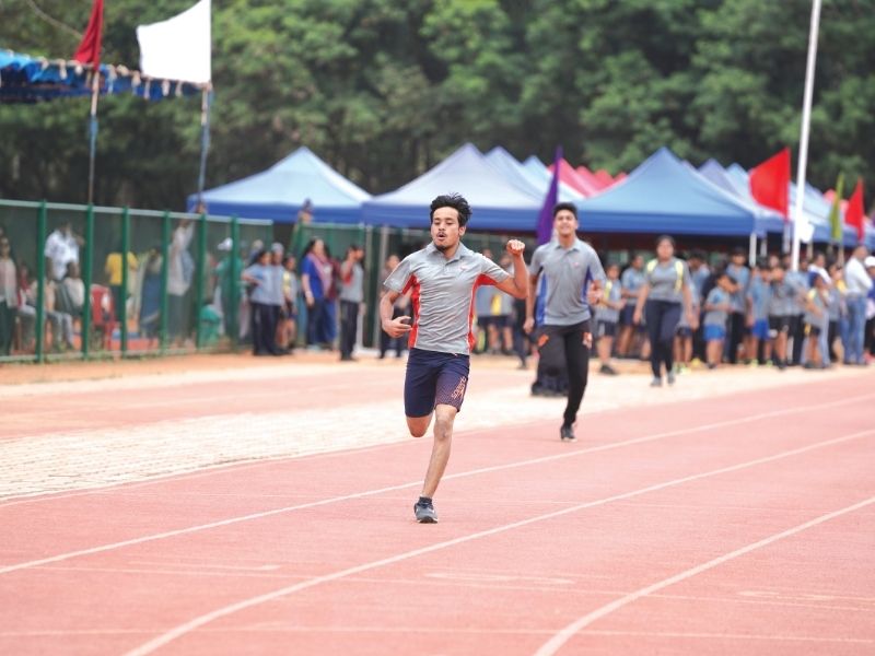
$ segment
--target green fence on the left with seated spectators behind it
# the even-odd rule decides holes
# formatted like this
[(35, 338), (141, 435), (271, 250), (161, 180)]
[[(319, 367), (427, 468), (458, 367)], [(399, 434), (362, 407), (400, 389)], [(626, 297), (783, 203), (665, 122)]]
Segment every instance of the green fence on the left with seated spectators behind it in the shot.
[(240, 273), (272, 224), (0, 201), (0, 362), (42, 362), (235, 345)]

